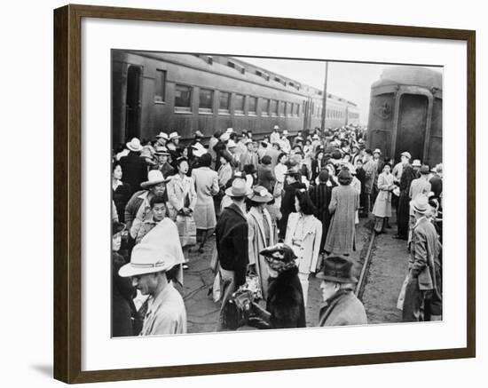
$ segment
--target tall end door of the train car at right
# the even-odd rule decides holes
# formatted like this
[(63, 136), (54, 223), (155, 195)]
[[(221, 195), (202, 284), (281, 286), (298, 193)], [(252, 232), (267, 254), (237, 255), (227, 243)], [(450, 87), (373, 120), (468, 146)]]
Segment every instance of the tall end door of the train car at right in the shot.
[(429, 100), (421, 94), (403, 94), (397, 126), (395, 155), (408, 151), (413, 159), (423, 160)]

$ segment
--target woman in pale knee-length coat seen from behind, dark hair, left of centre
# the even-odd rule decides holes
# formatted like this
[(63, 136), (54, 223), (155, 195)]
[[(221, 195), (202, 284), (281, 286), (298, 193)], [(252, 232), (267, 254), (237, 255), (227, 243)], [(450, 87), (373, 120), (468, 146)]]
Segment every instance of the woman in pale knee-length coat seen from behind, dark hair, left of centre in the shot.
[(202, 154), (200, 167), (192, 171), (192, 178), (195, 182), (195, 190), (197, 193), (193, 218), (197, 230), (200, 229), (201, 231), (200, 253), (203, 253), (203, 246), (216, 227), (216, 211), (213, 196), (218, 193), (218, 175), (216, 171), (210, 169), (211, 162), (212, 157), (210, 154)]

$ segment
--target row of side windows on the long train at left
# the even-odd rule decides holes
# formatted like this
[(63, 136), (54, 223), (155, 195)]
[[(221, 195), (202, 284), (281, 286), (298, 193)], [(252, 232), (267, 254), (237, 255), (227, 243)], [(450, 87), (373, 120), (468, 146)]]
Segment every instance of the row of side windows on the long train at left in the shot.
[[(186, 85), (175, 85), (175, 111), (192, 112), (192, 93), (193, 87)], [(213, 113), (215, 91), (210, 89), (200, 89), (199, 112)], [(300, 105), (295, 102), (279, 101), (277, 99), (264, 99), (262, 97), (247, 96), (244, 94), (230, 93), (227, 91), (218, 92), (218, 113), (229, 114), (231, 107), (235, 115), (244, 115), (246, 112), (246, 102), (248, 115), (257, 115), (258, 108), (261, 115), (300, 115)]]

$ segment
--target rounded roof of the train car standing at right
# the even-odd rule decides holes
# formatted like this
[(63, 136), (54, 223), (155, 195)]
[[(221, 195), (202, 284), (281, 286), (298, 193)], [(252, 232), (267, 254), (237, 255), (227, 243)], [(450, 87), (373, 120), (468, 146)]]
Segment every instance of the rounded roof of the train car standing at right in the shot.
[(380, 79), (373, 83), (372, 88), (390, 84), (404, 84), (436, 88), (442, 91), (442, 73), (426, 67), (395, 66), (382, 71)]

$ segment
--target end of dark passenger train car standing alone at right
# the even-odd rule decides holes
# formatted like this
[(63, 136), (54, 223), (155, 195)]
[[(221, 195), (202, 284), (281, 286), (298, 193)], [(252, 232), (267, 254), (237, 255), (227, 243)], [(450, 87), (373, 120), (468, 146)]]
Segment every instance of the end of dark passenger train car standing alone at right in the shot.
[(371, 86), (369, 147), (399, 161), (442, 162), (442, 74), (426, 67), (389, 67)]

